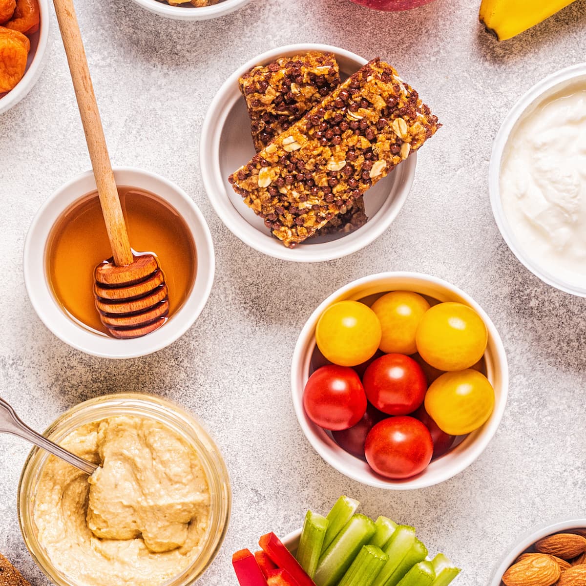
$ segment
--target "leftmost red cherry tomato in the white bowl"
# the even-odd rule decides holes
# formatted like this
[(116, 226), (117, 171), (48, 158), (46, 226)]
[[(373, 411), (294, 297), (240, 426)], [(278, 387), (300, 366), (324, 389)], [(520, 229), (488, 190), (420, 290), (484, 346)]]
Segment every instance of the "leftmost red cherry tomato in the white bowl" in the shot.
[(305, 413), (326, 430), (346, 430), (356, 425), (366, 405), (360, 377), (347, 366), (322, 366), (305, 384)]

